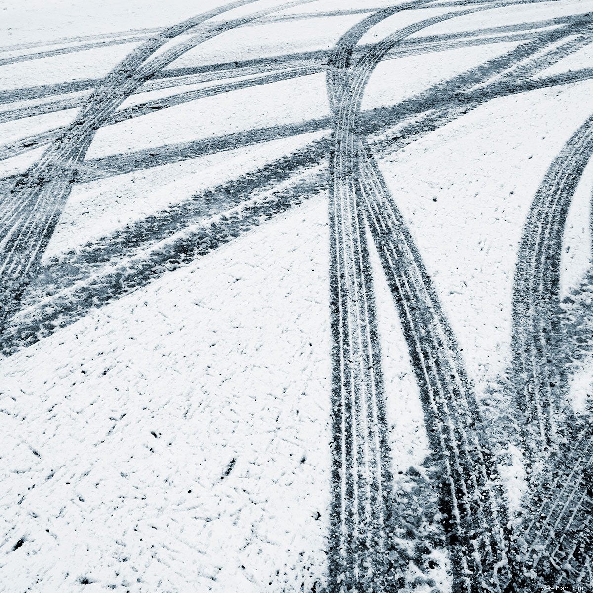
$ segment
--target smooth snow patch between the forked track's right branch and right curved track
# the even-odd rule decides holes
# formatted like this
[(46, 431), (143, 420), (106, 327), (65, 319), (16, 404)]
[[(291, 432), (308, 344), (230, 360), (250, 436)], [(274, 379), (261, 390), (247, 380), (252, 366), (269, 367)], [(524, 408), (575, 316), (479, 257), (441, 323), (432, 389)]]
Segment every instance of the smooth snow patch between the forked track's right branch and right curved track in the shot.
[(593, 111), (591, 91), (587, 81), (498, 98), (381, 161), (479, 391), (510, 362), (522, 227), (550, 162)]

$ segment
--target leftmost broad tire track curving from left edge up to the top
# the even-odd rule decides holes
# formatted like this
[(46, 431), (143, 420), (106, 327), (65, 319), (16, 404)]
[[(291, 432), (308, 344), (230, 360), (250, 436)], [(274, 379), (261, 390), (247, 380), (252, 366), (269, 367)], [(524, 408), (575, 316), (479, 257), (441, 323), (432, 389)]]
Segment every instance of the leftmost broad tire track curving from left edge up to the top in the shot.
[(23, 285), (39, 264), (70, 193), (73, 172), (84, 159), (95, 130), (109, 119), (122, 101), (155, 72), (197, 44), (271, 12), (302, 4), (290, 2), (248, 17), (206, 26), (184, 42), (150, 59), (173, 37), (250, 2), (239, 0), (166, 28), (130, 53), (106, 76), (103, 86), (94, 91), (63, 137), (50, 146), (38, 164), (17, 182), (14, 191), (5, 198), (0, 213), (0, 326), (18, 306)]

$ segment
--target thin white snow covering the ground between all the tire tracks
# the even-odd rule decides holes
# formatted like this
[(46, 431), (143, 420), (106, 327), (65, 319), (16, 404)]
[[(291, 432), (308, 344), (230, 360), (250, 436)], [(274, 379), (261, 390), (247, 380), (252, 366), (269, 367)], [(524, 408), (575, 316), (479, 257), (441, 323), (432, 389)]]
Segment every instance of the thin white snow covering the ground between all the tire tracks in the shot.
[[(71, 49), (92, 40), (150, 36), (219, 5), (219, 0), (197, 4), (6, 0), (0, 6), (0, 60), (26, 55), (35, 59), (0, 65), (5, 101), (0, 104), (0, 147), (6, 157), (0, 160), (2, 192), (14, 196), (9, 192), (15, 181), (26, 179), (21, 175), (28, 176), (45, 149), (39, 146), (14, 154), (10, 145), (68, 126), (78, 108), (20, 119), (10, 119), (11, 111), (43, 108), (65, 98), (82, 103), (93, 92), (73, 85), (68, 93), (66, 84), (56, 90), (60, 94), (29, 99), (18, 91), (100, 80), (141, 42)], [(167, 69), (243, 60), (266, 65), (267, 58), (303, 53), (305, 65), (317, 65), (319, 71), (260, 83), (262, 76), (281, 73), (282, 66), (270, 66), (265, 75), (246, 74), (241, 68), (235, 71), (237, 76), (229, 70), (220, 78), (209, 73), (212, 79), (200, 79), (190, 70), (171, 77), (167, 88), (159, 87), (160, 79), (151, 78), (135, 94), (122, 97), (120, 110), (154, 99), (167, 103), (177, 94), (227, 82), (248, 78), (257, 82), (118, 123), (109, 123), (110, 113), (105, 113), (107, 121), (99, 122), (78, 167), (82, 176), (90, 173), (91, 180), (72, 184), (55, 229), (47, 245), (42, 245), (42, 280), (35, 275), (24, 278), (30, 282), (23, 301), (28, 308), (11, 317), (9, 324), (14, 322), (18, 328), (28, 314), (37, 311), (39, 302), (26, 300), (31, 295), (49, 303), (56, 296), (52, 291), (67, 297), (74, 294), (78, 258), (90, 253), (82, 247), (107, 248), (114, 235), (132, 232), (137, 223), (155, 215), (166, 219), (176, 206), (199, 200), (208, 190), (266, 173), (280, 158), (292, 162), (295, 152), (329, 139), (333, 115), (324, 52), (330, 52), (353, 25), (392, 5), (384, 0), (316, 0), (294, 5), (259, 0), (213, 18), (206, 27), (265, 8), (279, 9), (273, 17), (212, 37)], [(471, 8), (475, 6), (435, 4), (398, 12), (362, 35), (358, 49), (426, 18)], [(463, 31), (484, 37), (483, 28), (505, 25), (521, 25), (529, 31), (541, 28), (540, 21), (590, 10), (589, 0), (509, 5), (460, 14), (412, 38)], [(316, 16), (322, 12), (335, 14)], [(289, 15), (297, 18), (276, 20)], [(147, 59), (155, 59), (192, 34), (173, 37)], [(566, 37), (546, 50), (571, 39)], [(425, 47), (421, 55), (383, 60), (369, 78), (362, 109), (372, 116), (378, 107), (406, 106), (409, 103), (404, 101), (524, 43), (482, 41), (479, 46), (457, 49), (428, 51)], [(589, 44), (559, 58), (536, 72), (531, 82), (589, 68), (592, 47)], [(68, 52), (35, 56), (60, 49)], [(311, 52), (317, 54), (307, 62)], [(473, 91), (487, 88), (477, 79), (472, 84)], [(477, 107), (468, 104), (463, 115), (435, 131), (419, 129), (403, 148), (388, 144), (382, 129), (369, 139), (455, 334), (480, 405), (515, 397), (518, 385), (509, 387), (509, 382), (518, 379), (511, 377), (509, 369), (519, 243), (533, 197), (551, 162), (593, 113), (592, 97), (591, 79), (566, 82), (492, 98)], [(317, 131), (302, 133), (305, 122), (320, 125), (311, 127)], [(378, 127), (382, 123), (378, 121)], [(275, 126), (290, 128), (293, 135), (249, 145), (250, 132), (260, 134)], [(218, 142), (239, 133), (244, 133), (246, 146), (214, 154), (184, 159), (178, 146)], [(155, 165), (147, 157), (137, 170), (109, 176), (111, 157), (125, 164), (129, 154), (160, 148), (177, 162)], [(295, 161), (295, 168), (301, 167), (298, 158)], [(299, 183), (290, 186), (289, 192), (298, 205), (279, 214), (266, 211), (261, 224), (238, 220), (229, 227), (229, 240), (208, 253), (200, 252), (162, 275), (150, 276), (132, 292), (122, 289), (122, 294), (107, 295), (100, 307), (92, 306), (100, 298), (94, 301), (90, 295), (88, 303), (74, 312), (75, 320), (48, 322), (55, 322), (55, 327), (46, 328), (47, 335), (38, 342), (2, 350), (0, 573), (7, 576), (0, 578), (0, 591), (297, 593), (326, 591), (328, 579), (346, 578), (332, 576), (328, 562), (336, 554), (331, 547), (332, 519), (345, 525), (346, 519), (350, 521), (330, 517), (330, 509), (336, 510), (332, 505), (338, 489), (332, 483), (332, 470), (336, 470), (341, 436), (333, 432), (337, 429), (332, 423), (336, 343), (331, 335), (330, 302), (336, 297), (329, 280), (335, 265), (329, 248), (326, 187), (334, 181), (329, 162), (324, 158), (302, 165), (308, 172), (301, 171)], [(97, 170), (101, 178), (93, 180)], [(266, 181), (264, 187), (250, 192), (246, 189), (239, 205), (232, 203), (233, 196), (221, 192), (215, 196), (218, 210), (171, 222), (178, 226), (166, 237), (145, 237), (148, 247), (142, 243), (119, 254), (120, 267), (134, 266), (177, 241), (193, 240), (196, 229), (222, 225), (229, 216), (248, 212), (260, 196), (272, 202), (288, 191), (294, 177)], [(592, 184), (593, 162), (589, 161), (566, 220), (560, 299), (573, 295), (591, 278)], [(338, 195), (340, 190), (344, 188), (338, 188)], [(229, 205), (224, 209), (227, 197)], [(0, 205), (3, 200), (4, 194)], [(31, 212), (37, 213), (37, 206), (34, 203)], [(420, 510), (406, 511), (422, 517), (432, 502), (428, 490), (417, 495), (419, 484), (447, 496), (446, 490), (438, 490), (438, 480), (445, 477), (435, 476), (432, 467), (442, 469), (438, 452), (431, 449), (435, 439), (429, 441), (427, 432), (426, 417), (432, 410), (423, 408), (416, 377), (419, 363), (410, 358), (394, 294), (370, 236), (367, 243), (394, 504), (401, 504), (398, 495), (412, 500)], [(1, 249), (0, 256), (4, 257)], [(102, 263), (96, 268), (91, 264), (89, 273), (96, 271), (100, 276), (112, 262), (105, 268), (100, 267)], [(75, 272), (68, 284), (70, 267)], [(58, 280), (63, 285), (57, 280), (56, 285), (43, 285), (52, 273), (62, 274)], [(4, 282), (4, 276), (0, 280)], [(86, 281), (78, 280), (76, 288), (84, 288)], [(0, 297), (4, 295), (0, 292)], [(579, 300), (580, 317), (575, 321), (575, 327), (581, 324), (582, 335), (590, 333), (585, 327), (591, 317), (587, 299), (584, 295)], [(565, 311), (570, 317), (576, 308), (573, 311), (567, 305)], [(567, 342), (574, 337), (564, 336)], [(17, 332), (15, 339), (23, 340), (24, 334), (19, 337)], [(561, 386), (578, 422), (584, 422), (590, 411), (593, 389), (593, 356), (585, 342), (578, 342), (584, 344), (581, 358), (569, 361), (566, 384)], [(344, 364), (349, 364), (346, 358)], [(511, 416), (511, 424), (518, 424), (519, 415), (509, 405), (499, 416), (491, 419), (492, 435), (486, 426), (485, 438), (492, 436), (493, 467), (498, 468), (496, 480), (502, 486), (509, 525), (519, 529), (525, 501), (534, 492), (530, 482), (534, 477), (521, 439), (508, 436), (517, 426), (505, 426), (507, 432), (499, 434), (498, 424), (506, 416)], [(353, 479), (353, 468), (348, 471), (346, 478)], [(443, 543), (441, 519), (435, 510), (434, 541), (428, 552), (416, 556), (412, 551), (419, 540), (400, 537), (401, 525), (397, 525), (398, 539), (389, 531), (393, 526), (382, 528), (414, 556), (405, 569), (403, 591), (455, 591), (452, 547)], [(422, 554), (425, 558), (419, 560)]]

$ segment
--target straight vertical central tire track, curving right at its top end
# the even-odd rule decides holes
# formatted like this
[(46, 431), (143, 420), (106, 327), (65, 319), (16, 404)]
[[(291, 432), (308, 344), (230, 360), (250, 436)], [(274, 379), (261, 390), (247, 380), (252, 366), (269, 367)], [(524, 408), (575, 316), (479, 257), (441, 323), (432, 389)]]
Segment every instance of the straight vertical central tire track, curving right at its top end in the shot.
[(329, 591), (397, 591), (403, 562), (394, 535), (393, 477), (381, 350), (362, 211), (349, 192), (355, 161), (342, 116), (353, 48), (373, 25), (407, 5), (370, 15), (336, 43), (327, 94), (336, 123), (330, 140), (330, 318), (332, 498)]

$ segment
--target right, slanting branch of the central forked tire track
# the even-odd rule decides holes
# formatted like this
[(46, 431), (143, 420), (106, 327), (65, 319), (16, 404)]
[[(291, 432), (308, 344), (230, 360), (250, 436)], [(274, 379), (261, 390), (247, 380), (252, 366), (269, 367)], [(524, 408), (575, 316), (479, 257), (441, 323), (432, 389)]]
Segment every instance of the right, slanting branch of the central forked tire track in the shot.
[[(442, 470), (441, 509), (459, 590), (499, 588), (505, 564), (496, 465), (457, 344), (377, 164), (361, 147), (371, 235), (394, 295)], [(500, 573), (497, 570), (500, 566)], [(471, 574), (473, 576), (463, 576)], [(457, 590), (457, 589), (455, 589)]]

